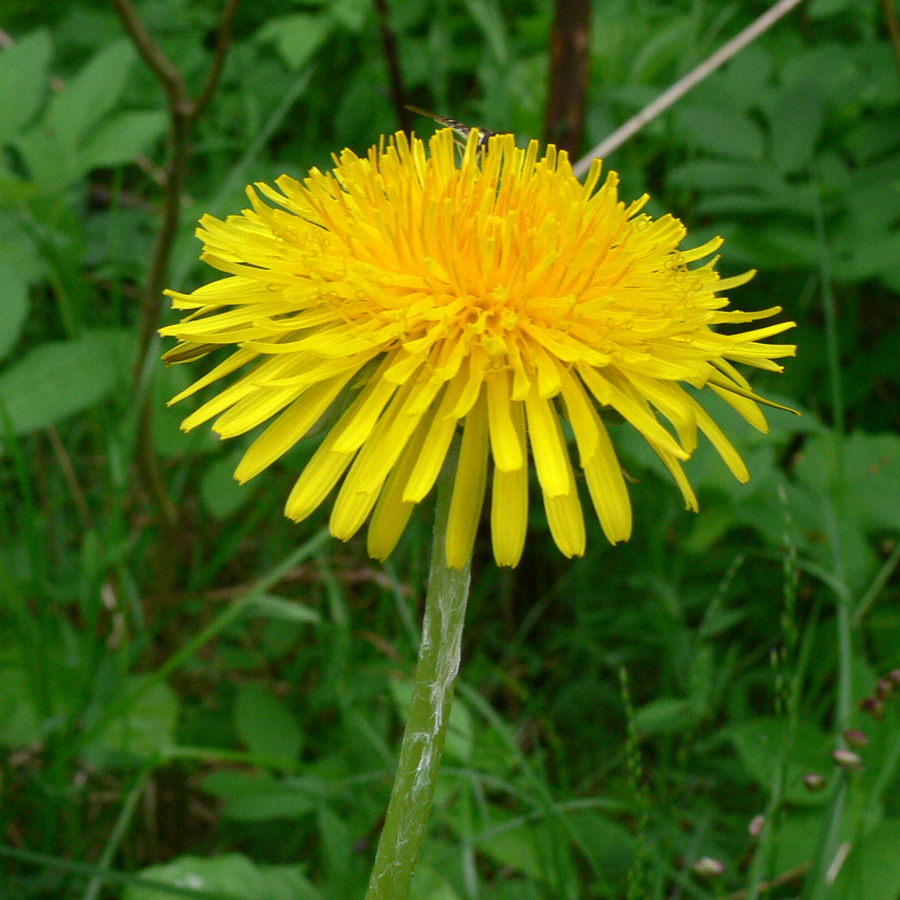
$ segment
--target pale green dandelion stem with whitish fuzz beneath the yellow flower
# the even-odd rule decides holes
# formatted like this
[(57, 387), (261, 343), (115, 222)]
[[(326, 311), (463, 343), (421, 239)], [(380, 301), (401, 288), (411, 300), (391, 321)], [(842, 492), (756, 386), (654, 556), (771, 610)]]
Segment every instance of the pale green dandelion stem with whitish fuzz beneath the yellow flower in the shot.
[(471, 562), (461, 569), (451, 569), (445, 558), (458, 455), (455, 450), (456, 442), (438, 480), (431, 569), (412, 703), (365, 900), (406, 900), (428, 826), (447, 736), (453, 682), (459, 671)]

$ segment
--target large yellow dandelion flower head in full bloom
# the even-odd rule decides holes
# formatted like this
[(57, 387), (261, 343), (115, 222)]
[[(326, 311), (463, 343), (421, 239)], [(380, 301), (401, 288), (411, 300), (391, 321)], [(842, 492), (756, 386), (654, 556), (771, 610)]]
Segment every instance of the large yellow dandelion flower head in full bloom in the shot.
[(446, 544), (454, 567), (472, 551), (489, 460), (499, 564), (522, 554), (529, 456), (566, 556), (584, 552), (580, 480), (607, 538), (630, 536), (604, 407), (641, 433), (688, 507), (697, 501), (681, 463), (698, 430), (746, 480), (737, 451), (682, 383), (708, 387), (765, 430), (757, 404), (766, 401), (732, 364), (780, 371), (773, 360), (794, 347), (761, 341), (793, 323), (714, 330), (779, 312), (726, 309), (721, 292), (752, 272), (720, 278), (715, 259), (690, 267), (720, 239), (679, 251), (681, 222), (641, 212), (646, 197), (620, 201), (615, 173), (600, 185), (599, 162), (582, 184), (553, 146), (539, 158), (537, 142), (522, 150), (496, 135), (479, 149), (478, 139), (473, 131), (460, 160), (449, 129), (430, 152), (398, 133), (365, 158), (344, 150), (330, 172), (248, 189), (252, 208), (239, 216), (204, 216), (202, 259), (228, 277), (168, 292), (188, 314), (162, 329), (181, 342), (166, 358), (220, 345), (232, 353), (172, 402), (245, 371), (183, 428), (215, 418), (214, 430), (234, 437), (268, 422), (235, 472), (244, 482), (349, 394), (285, 513), (302, 520), (343, 478), (332, 533), (346, 540), (370, 518), (368, 550), (384, 558), (461, 427)]

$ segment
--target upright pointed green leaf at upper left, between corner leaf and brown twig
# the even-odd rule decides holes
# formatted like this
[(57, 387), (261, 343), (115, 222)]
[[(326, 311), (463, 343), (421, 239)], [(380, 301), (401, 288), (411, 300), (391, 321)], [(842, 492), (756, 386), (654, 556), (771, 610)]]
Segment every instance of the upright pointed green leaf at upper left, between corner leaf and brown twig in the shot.
[(54, 95), (46, 127), (60, 146), (72, 150), (113, 108), (125, 88), (135, 50), (126, 40), (101, 50), (65, 88)]

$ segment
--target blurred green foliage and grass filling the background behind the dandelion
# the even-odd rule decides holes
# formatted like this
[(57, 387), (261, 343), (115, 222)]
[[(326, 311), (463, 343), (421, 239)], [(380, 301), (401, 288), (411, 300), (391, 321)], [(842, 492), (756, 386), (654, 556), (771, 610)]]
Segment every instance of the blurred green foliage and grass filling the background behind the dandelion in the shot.
[[(196, 96), (220, 5), (138, 9)], [(594, 3), (582, 150), (764, 9)], [(803, 416), (772, 412), (768, 438), (732, 423), (747, 486), (701, 447), (699, 516), (613, 425), (638, 482), (631, 542), (612, 548), (594, 524), (569, 562), (535, 514), (517, 569), (479, 547), (419, 900), (900, 896), (900, 701), (885, 679), (900, 667), (900, 57), (886, 9), (802, 4), (612, 154), (624, 197), (649, 191), (691, 243), (722, 234), (726, 274), (759, 270), (741, 307), (798, 323), (797, 359), (755, 384)], [(552, 14), (393, 0), (408, 101), (540, 135)], [(427, 515), (377, 566), (323, 536), (327, 510), (283, 519), (314, 440), (238, 489), (240, 442), (178, 431), (187, 410), (164, 403), (192, 373), (157, 365), (155, 342), (137, 376), (134, 361), (165, 96), (100, 0), (6, 0), (4, 15), (0, 894), (360, 897)], [(239, 6), (167, 283), (211, 277), (193, 223), (238, 210), (246, 183), (396, 129), (387, 71), (377, 4)], [(863, 771), (833, 761), (848, 728), (868, 738)]]

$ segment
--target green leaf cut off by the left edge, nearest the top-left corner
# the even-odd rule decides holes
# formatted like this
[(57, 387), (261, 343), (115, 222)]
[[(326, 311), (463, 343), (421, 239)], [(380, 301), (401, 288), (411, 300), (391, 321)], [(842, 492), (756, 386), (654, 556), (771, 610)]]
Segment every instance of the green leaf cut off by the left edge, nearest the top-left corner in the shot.
[(50, 35), (35, 31), (0, 53), (0, 143), (27, 125), (47, 92)]

